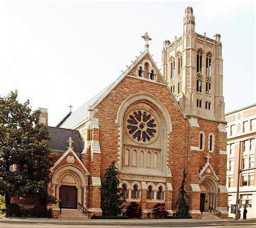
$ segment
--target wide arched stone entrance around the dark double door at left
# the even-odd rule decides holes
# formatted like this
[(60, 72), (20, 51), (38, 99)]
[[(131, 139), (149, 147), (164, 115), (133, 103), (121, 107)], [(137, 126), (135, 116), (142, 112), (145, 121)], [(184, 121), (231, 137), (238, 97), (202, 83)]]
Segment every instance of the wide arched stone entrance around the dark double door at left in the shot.
[(58, 168), (52, 176), (55, 197), (59, 198), (62, 208), (77, 209), (78, 203), (85, 205), (87, 178), (76, 166), (66, 165)]

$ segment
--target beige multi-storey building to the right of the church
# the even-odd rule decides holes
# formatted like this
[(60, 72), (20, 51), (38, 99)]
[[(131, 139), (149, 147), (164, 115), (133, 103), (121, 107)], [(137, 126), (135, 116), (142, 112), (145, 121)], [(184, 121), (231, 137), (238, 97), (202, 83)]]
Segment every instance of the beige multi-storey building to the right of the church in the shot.
[(228, 215), (234, 217), (231, 205), (236, 203), (238, 169), (242, 169), (245, 171), (240, 174), (239, 205), (242, 212), (248, 200), (247, 218), (256, 218), (256, 169), (253, 169), (255, 167), (256, 104), (229, 112), (225, 117), (227, 121)]

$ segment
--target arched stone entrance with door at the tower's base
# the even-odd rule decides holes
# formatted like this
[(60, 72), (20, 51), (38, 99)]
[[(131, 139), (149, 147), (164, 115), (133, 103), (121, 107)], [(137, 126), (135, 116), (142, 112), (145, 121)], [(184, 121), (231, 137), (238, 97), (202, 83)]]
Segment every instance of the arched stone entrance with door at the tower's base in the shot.
[(212, 176), (204, 176), (199, 181), (200, 186), (200, 211), (216, 209), (218, 202), (218, 182)]

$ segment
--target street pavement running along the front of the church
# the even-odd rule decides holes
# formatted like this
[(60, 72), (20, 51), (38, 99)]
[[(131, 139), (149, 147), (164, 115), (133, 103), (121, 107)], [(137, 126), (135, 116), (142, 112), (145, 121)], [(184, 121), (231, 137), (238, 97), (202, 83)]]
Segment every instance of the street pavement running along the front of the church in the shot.
[(63, 219), (0, 219), (1, 228), (69, 228), (69, 227), (256, 227), (256, 219), (130, 219), (130, 220), (63, 220)]

